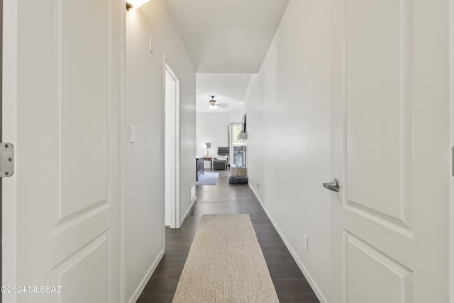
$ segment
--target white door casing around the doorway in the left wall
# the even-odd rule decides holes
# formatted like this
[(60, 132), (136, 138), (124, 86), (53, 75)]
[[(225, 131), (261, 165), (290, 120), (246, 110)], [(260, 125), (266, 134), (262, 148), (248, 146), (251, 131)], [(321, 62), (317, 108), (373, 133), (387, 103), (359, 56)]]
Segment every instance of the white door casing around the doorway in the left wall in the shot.
[[(166, 97), (166, 72), (169, 73), (169, 75), (175, 79), (176, 87), (175, 87), (175, 111), (170, 113), (172, 115), (172, 118), (175, 117), (175, 126), (171, 126), (171, 128), (175, 129), (175, 141), (172, 140), (170, 141), (170, 150), (166, 150), (164, 148), (164, 155), (165, 155), (165, 175), (171, 174), (171, 180), (172, 183), (170, 184), (171, 191), (172, 191), (172, 197), (165, 197), (166, 200), (166, 205), (167, 205), (167, 199), (172, 199), (170, 202), (170, 228), (179, 228), (181, 227), (181, 222), (180, 222), (180, 197), (179, 197), (179, 180), (180, 180), (180, 153), (181, 153), (181, 135), (180, 135), (180, 83), (178, 77), (175, 75), (175, 72), (173, 72), (172, 68), (167, 64), (165, 61), (165, 55), (164, 55), (164, 104), (167, 102), (167, 97)], [(164, 121), (166, 121), (167, 114), (165, 111), (164, 106)], [(172, 122), (171, 122), (172, 123)], [(172, 123), (173, 124), (173, 123)], [(166, 123), (164, 124), (166, 125)], [(164, 127), (164, 138), (165, 141), (167, 141), (167, 133), (166, 129)], [(166, 144), (165, 144), (166, 146)], [(170, 157), (170, 158), (167, 158)], [(170, 160), (172, 162), (168, 162), (167, 160)], [(172, 164), (175, 164), (173, 166)], [(167, 178), (166, 178), (167, 182)], [(174, 195), (175, 194), (175, 195)]]

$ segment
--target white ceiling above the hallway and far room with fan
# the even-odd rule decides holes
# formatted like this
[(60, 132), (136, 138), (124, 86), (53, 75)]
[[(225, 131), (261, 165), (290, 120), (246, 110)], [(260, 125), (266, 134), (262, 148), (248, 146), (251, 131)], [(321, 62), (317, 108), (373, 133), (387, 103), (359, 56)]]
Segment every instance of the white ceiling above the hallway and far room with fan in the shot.
[(289, 0), (167, 0), (196, 70), (196, 111), (209, 96), (242, 109), (251, 74), (260, 70)]

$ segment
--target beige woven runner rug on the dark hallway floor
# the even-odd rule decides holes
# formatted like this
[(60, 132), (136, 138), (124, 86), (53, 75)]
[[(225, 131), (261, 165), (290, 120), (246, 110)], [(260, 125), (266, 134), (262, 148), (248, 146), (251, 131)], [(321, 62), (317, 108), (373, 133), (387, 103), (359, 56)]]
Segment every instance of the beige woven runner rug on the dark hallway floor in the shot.
[(202, 216), (173, 303), (275, 302), (249, 215)]

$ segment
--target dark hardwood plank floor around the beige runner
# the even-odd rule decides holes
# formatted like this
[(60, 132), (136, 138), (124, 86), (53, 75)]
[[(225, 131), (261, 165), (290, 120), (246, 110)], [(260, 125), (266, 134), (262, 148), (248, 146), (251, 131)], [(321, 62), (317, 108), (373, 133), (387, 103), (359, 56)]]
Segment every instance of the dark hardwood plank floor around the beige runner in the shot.
[(197, 202), (182, 228), (166, 227), (165, 255), (137, 303), (172, 302), (192, 239), (203, 214), (249, 214), (279, 302), (319, 302), (253, 192), (247, 184), (229, 185), (228, 174), (228, 171), (219, 171), (216, 186), (197, 187)]

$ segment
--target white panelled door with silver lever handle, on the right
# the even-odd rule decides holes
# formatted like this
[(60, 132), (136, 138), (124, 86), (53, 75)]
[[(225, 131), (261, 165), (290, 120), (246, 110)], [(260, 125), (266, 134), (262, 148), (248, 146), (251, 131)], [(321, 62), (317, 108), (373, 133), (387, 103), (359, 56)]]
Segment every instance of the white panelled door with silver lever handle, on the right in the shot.
[(448, 302), (448, 1), (332, 5), (330, 302)]

